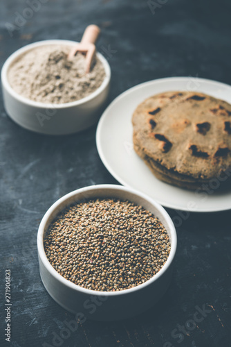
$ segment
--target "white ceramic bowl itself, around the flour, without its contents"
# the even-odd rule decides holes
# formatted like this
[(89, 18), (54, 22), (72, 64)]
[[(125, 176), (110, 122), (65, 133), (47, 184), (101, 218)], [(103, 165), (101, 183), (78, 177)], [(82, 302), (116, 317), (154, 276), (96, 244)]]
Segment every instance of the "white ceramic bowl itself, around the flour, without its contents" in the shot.
[(3, 102), (6, 112), (17, 124), (37, 133), (65, 135), (89, 128), (98, 121), (109, 93), (111, 69), (102, 54), (97, 53), (106, 72), (102, 85), (89, 96), (71, 103), (51, 104), (32, 101), (15, 92), (8, 82), (8, 69), (15, 59), (30, 49), (48, 44), (65, 44), (71, 47), (76, 42), (68, 40), (39, 41), (12, 53), (1, 70)]

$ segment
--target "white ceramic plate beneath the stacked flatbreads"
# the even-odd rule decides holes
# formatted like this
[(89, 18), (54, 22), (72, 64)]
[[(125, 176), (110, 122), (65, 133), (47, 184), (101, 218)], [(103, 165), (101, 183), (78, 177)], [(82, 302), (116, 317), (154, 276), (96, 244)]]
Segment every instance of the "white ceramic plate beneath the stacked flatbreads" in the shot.
[(132, 87), (118, 96), (100, 119), (96, 133), (100, 158), (122, 185), (138, 189), (167, 208), (192, 212), (229, 210), (231, 189), (219, 192), (219, 180), (211, 181), (207, 193), (168, 185), (158, 180), (133, 150), (133, 111), (149, 96), (172, 90), (204, 92), (231, 103), (230, 85), (203, 78), (161, 78)]

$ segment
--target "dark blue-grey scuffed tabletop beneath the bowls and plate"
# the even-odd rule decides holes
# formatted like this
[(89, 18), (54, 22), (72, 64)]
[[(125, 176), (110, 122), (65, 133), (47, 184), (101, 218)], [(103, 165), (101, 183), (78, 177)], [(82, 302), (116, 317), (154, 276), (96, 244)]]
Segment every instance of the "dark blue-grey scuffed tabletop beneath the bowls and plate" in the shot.
[[(231, 84), (229, 0), (156, 0), (157, 5), (138, 0), (43, 2), (31, 19), (11, 31), (6, 23), (15, 25), (15, 12), (22, 14), (28, 4), (1, 0), (1, 65), (30, 42), (80, 40), (84, 28), (94, 23), (102, 28), (98, 51), (112, 70), (109, 101), (154, 78), (198, 76)], [(107, 53), (107, 49), (114, 52)], [(0, 108), (0, 334), (4, 339), (5, 269), (10, 269), (11, 345), (36, 347), (46, 342), (52, 346), (53, 332), (59, 335), (63, 321), (73, 319), (73, 314), (59, 307), (41, 283), (36, 244), (39, 222), (60, 196), (87, 185), (117, 182), (98, 156), (95, 128), (65, 137), (37, 135), (10, 120), (1, 95)], [(191, 213), (184, 218), (177, 228), (174, 277), (158, 305), (127, 321), (86, 321), (62, 346), (231, 346), (230, 211)], [(178, 342), (172, 331), (192, 319), (197, 305), (205, 305), (210, 312)]]

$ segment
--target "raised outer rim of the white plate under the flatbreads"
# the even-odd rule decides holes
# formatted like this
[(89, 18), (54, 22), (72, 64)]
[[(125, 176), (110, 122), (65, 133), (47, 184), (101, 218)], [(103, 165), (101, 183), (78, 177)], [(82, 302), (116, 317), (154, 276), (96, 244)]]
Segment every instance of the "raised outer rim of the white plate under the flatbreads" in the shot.
[[(190, 79), (191, 78), (191, 79)], [(124, 185), (125, 187), (129, 187), (131, 189), (136, 189), (139, 191), (138, 188), (133, 187), (132, 185), (129, 185), (127, 182), (125, 182), (125, 180), (123, 178), (120, 178), (120, 175), (118, 175), (114, 169), (111, 167), (111, 165), (108, 163), (107, 158), (105, 158), (104, 155), (104, 151), (103, 148), (101, 146), (100, 143), (100, 133), (102, 130), (102, 126), (104, 124), (104, 119), (107, 118), (107, 115), (109, 114), (111, 108), (113, 108), (113, 106), (118, 103), (118, 101), (120, 101), (120, 99), (123, 99), (124, 96), (131, 94), (133, 91), (142, 89), (142, 87), (146, 87), (147, 85), (153, 85), (153, 84), (158, 84), (158, 83), (162, 83), (165, 82), (167, 83), (168, 81), (191, 81), (192, 77), (187, 77), (187, 76), (178, 76), (178, 77), (165, 77), (165, 78), (158, 78), (156, 80), (151, 80), (151, 81), (147, 81), (144, 83), (140, 83), (138, 85), (135, 85), (131, 88), (129, 88), (128, 90), (125, 90), (124, 92), (122, 92), (121, 94), (119, 94), (115, 99), (113, 99), (113, 101), (111, 101), (111, 103), (107, 106), (106, 110), (104, 110), (104, 112), (102, 113), (102, 116), (100, 117), (100, 121), (98, 122), (98, 126), (97, 126), (97, 130), (96, 130), (96, 135), (95, 135), (95, 139), (96, 139), (96, 146), (98, 149), (98, 153), (100, 155), (100, 159), (102, 160), (102, 163), (104, 164), (104, 167), (106, 167), (106, 169), (109, 171), (109, 173), (115, 178), (115, 180), (118, 180), (119, 183), (121, 183), (122, 185)], [(221, 87), (229, 87), (230, 91), (231, 91), (231, 85), (228, 85), (226, 83), (222, 83), (219, 81), (213, 81), (207, 78), (197, 78), (196, 77), (196, 81), (201, 81), (203, 83), (210, 83), (210, 85), (217, 85), (219, 87), (219, 85)], [(208, 92), (209, 94), (209, 92)], [(148, 96), (147, 96), (148, 97)], [(145, 98), (144, 98), (145, 99)], [(167, 184), (167, 183), (166, 183)], [(181, 188), (179, 188), (181, 189)], [(143, 194), (147, 194), (142, 192)], [(196, 213), (210, 213), (210, 212), (221, 212), (221, 211), (227, 211), (231, 209), (231, 203), (230, 206), (223, 206), (223, 207), (218, 207), (218, 208), (200, 208), (200, 210), (193, 210), (193, 209), (189, 209), (186, 206), (181, 206), (176, 204), (172, 204), (172, 203), (168, 203), (166, 201), (163, 201), (159, 198), (154, 198), (153, 196), (150, 196), (151, 198), (153, 198), (157, 203), (159, 203), (160, 205), (165, 206), (165, 208), (172, 208), (174, 210), (181, 210), (181, 211), (188, 211), (188, 212), (196, 212)]]

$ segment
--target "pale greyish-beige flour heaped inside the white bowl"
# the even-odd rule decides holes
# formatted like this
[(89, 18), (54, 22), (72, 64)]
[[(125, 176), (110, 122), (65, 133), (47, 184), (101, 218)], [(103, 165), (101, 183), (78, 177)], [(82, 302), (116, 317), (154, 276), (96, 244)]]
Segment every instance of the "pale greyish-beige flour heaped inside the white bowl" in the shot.
[(30, 100), (41, 103), (69, 103), (88, 96), (104, 81), (102, 62), (95, 57), (89, 74), (84, 72), (82, 53), (68, 60), (70, 46), (39, 46), (12, 63), (11, 87)]

